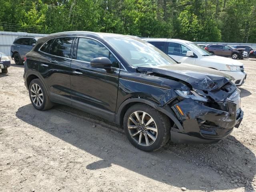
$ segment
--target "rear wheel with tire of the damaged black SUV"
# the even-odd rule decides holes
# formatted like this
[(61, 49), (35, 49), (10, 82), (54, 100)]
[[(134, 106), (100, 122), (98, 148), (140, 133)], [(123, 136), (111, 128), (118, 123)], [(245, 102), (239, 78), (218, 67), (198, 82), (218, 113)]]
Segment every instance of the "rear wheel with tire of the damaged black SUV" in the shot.
[(32, 105), (37, 110), (47, 110), (52, 108), (48, 92), (39, 79), (33, 79), (29, 85), (29, 97)]

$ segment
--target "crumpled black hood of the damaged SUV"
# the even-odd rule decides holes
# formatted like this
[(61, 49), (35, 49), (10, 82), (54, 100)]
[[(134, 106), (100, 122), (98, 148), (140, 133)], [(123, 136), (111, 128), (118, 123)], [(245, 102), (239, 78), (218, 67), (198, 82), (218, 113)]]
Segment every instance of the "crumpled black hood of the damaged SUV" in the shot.
[(137, 67), (146, 74), (161, 74), (167, 78), (181, 80), (190, 84), (194, 89), (217, 90), (234, 78), (218, 70), (194, 66), (190, 64), (172, 64), (160, 67)]

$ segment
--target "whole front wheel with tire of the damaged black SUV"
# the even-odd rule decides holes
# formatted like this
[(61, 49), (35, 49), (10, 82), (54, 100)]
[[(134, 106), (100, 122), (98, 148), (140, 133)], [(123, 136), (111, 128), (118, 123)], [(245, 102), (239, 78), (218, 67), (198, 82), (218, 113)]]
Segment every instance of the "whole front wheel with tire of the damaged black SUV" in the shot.
[(140, 150), (158, 150), (170, 139), (170, 119), (151, 106), (135, 104), (124, 115), (124, 131)]

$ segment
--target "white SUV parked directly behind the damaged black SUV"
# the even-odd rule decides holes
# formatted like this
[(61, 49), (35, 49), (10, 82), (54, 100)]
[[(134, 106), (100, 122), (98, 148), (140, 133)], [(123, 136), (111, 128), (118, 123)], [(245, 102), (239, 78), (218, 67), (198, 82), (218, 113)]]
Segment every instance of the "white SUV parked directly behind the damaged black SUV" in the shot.
[(246, 73), (244, 72), (244, 65), (241, 62), (212, 55), (193, 42), (180, 39), (158, 38), (144, 38), (143, 40), (153, 44), (178, 62), (225, 72), (234, 77), (232, 82), (236, 86), (241, 86), (245, 82)]

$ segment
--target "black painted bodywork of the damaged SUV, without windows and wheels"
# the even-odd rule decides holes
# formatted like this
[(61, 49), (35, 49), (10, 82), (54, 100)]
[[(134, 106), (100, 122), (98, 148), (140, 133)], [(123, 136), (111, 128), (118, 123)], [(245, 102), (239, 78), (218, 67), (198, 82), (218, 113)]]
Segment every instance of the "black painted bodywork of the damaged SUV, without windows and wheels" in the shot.
[[(84, 62), (75, 59), (74, 41), (71, 48), (72, 58), (69, 59), (56, 58), (38, 51), (50, 38), (63, 36), (89, 37), (102, 42), (122, 63), (121, 68), (112, 68), (109, 71), (92, 68), (88, 63), (84, 65)], [(233, 109), (236, 104), (227, 100), (228, 96), (236, 90), (236, 86), (230, 82), (230, 77), (224, 77), (222, 73), (211, 75), (210, 71), (208, 74), (193, 72), (192, 69), (184, 70), (182, 67), (175, 70), (134, 68), (126, 63), (102, 36), (115, 35), (68, 32), (53, 34), (38, 40), (33, 50), (26, 54), (24, 68), (26, 87), (28, 88), (33, 78), (38, 77), (46, 86), (53, 102), (96, 114), (118, 125), (122, 125), (123, 115), (130, 105), (137, 102), (148, 104), (166, 114), (174, 122), (171, 128), (171, 138), (174, 142), (218, 142), (228, 136), (235, 124), (242, 120), (242, 111), (238, 115), (235, 114)], [(47, 64), (48, 67), (43, 68), (42, 64)], [(193, 66), (193, 68), (197, 67)], [(74, 71), (82, 71), (83, 75), (74, 74)], [(214, 70), (212, 72), (216, 73)], [(201, 90), (196, 90), (197, 88)], [(208, 106), (190, 98), (182, 99), (174, 89), (194, 89), (209, 98)], [(182, 107), (185, 116), (181, 116), (176, 110), (177, 104)], [(208, 132), (203, 133), (200, 129), (199, 117), (213, 122), (216, 126), (212, 126)]]

